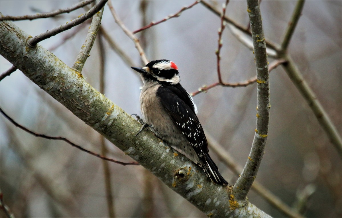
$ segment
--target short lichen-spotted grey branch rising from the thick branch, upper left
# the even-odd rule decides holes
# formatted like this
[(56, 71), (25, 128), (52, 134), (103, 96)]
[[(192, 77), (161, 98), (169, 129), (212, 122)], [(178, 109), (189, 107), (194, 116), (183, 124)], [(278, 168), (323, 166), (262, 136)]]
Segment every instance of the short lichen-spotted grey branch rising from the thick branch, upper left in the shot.
[(91, 48), (93, 47), (97, 31), (101, 25), (103, 9), (104, 8), (102, 7), (102, 9), (93, 16), (86, 40), (84, 41), (81, 50), (76, 57), (73, 67), (71, 67), (72, 69), (77, 70), (78, 72), (82, 72), (82, 68), (86, 63), (87, 58), (89, 57)]

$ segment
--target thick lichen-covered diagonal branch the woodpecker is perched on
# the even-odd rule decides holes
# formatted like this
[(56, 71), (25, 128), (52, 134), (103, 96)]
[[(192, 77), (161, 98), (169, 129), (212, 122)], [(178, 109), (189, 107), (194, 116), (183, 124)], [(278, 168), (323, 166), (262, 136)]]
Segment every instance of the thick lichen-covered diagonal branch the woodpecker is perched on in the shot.
[(0, 54), (172, 190), (210, 217), (269, 217), (247, 200), (238, 201), (229, 187), (209, 181), (201, 168), (152, 132), (136, 137), (137, 121), (41, 45), (30, 48), (28, 37), (12, 22), (0, 22)]

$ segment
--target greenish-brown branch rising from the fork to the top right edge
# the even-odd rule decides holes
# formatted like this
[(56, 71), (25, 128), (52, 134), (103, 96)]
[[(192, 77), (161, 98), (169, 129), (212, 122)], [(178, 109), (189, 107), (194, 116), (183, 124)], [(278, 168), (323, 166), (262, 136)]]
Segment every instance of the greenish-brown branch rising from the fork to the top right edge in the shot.
[(290, 43), (291, 37), (293, 35), (294, 29), (297, 26), (299, 17), (302, 14), (302, 10), (304, 7), (305, 0), (298, 0), (297, 4), (295, 6), (295, 9), (292, 13), (292, 17), (290, 19), (289, 25), (287, 26), (287, 29), (285, 31), (284, 39), (281, 43), (281, 51), (285, 52), (287, 50), (287, 47)]

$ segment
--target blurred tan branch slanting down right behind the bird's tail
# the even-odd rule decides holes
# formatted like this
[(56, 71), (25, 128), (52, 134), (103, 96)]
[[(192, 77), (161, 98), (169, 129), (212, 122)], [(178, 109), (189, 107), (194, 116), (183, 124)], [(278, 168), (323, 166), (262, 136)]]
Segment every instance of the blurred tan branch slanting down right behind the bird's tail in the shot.
[[(210, 150), (215, 153), (218, 158), (235, 173), (235, 175), (239, 176), (240, 172), (242, 172), (242, 167), (236, 163), (234, 158), (208, 132), (205, 132), (205, 134)], [(287, 217), (303, 218), (257, 180), (253, 182), (251, 188)]]

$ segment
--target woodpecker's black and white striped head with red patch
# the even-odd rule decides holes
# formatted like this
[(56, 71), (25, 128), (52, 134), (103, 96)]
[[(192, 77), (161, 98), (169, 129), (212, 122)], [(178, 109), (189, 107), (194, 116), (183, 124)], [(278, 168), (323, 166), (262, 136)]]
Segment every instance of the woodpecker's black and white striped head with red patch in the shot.
[(131, 67), (139, 72), (144, 81), (152, 80), (162, 84), (175, 85), (180, 82), (178, 68), (170, 60), (153, 60), (145, 67)]

